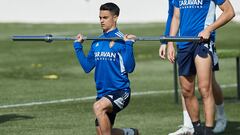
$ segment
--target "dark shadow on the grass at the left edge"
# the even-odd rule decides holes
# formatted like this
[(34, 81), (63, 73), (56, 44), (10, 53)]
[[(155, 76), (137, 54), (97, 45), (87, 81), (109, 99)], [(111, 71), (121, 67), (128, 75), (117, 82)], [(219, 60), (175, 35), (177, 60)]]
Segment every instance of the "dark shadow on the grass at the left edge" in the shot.
[(25, 120), (25, 119), (33, 119), (32, 116), (18, 115), (18, 114), (5, 114), (0, 115), (0, 124), (7, 121), (17, 121), (17, 120)]

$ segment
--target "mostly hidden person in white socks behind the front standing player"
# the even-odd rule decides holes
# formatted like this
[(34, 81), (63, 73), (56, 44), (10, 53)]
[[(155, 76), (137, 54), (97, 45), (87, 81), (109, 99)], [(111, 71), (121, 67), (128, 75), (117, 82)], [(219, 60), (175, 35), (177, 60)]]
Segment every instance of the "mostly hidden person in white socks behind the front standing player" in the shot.
[[(168, 2), (169, 2), (168, 18), (167, 18), (167, 23), (166, 23), (165, 33), (164, 33), (166, 36), (169, 36), (170, 25), (172, 22), (172, 16), (173, 16), (173, 11), (174, 11), (172, 0), (168, 0)], [(162, 42), (162, 44), (159, 48), (159, 56), (162, 59), (165, 59), (166, 44), (167, 44), (166, 42)], [(214, 46), (214, 48), (215, 48), (215, 46)], [(216, 58), (216, 63), (214, 63), (213, 71), (218, 71), (219, 70), (218, 59), (217, 59), (215, 50), (213, 51), (213, 55)], [(224, 132), (224, 130), (227, 126), (227, 118), (226, 118), (225, 112), (224, 112), (223, 94), (222, 94), (219, 84), (217, 83), (217, 81), (215, 79), (214, 72), (212, 75), (212, 90), (213, 90), (214, 100), (216, 103), (216, 124), (215, 124), (215, 128), (213, 129), (213, 132), (221, 133), (221, 132)], [(185, 106), (185, 101), (184, 101), (183, 96), (181, 96), (181, 100), (182, 100), (182, 107), (183, 107), (183, 125), (176, 132), (170, 133), (169, 135), (192, 134), (194, 132), (193, 126), (191, 123), (191, 119), (189, 117), (189, 114), (188, 114), (186, 106)]]

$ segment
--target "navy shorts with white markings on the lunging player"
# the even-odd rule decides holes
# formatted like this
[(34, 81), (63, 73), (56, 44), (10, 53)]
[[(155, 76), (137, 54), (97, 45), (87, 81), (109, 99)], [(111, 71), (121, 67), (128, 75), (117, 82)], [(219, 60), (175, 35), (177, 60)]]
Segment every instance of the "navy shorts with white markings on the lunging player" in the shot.
[[(112, 103), (113, 111), (111, 113), (107, 113), (107, 115), (111, 125), (114, 125), (116, 114), (127, 107), (131, 97), (130, 93), (125, 90), (117, 90), (105, 95), (104, 97), (109, 99)], [(97, 119), (95, 120), (95, 125), (99, 126)]]

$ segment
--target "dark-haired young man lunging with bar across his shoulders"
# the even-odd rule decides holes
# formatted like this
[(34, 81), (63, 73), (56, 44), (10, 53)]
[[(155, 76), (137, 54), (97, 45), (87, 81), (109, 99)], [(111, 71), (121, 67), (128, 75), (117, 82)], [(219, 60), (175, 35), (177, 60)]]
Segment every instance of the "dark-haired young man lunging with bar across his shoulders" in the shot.
[(100, 7), (100, 24), (103, 34), (100, 38), (121, 37), (124, 41), (95, 40), (87, 56), (83, 53), (83, 36), (77, 35), (74, 49), (86, 73), (95, 68), (97, 101), (93, 105), (96, 116), (97, 135), (138, 135), (133, 128), (113, 128), (115, 117), (130, 101), (128, 73), (133, 72), (134, 35), (123, 35), (117, 28), (120, 9), (114, 3)]

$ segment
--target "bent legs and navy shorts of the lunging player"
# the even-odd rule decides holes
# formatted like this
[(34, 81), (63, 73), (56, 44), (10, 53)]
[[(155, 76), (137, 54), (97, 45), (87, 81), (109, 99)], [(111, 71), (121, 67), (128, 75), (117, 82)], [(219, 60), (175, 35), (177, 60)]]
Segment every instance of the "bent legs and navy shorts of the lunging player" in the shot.
[(138, 130), (134, 128), (113, 128), (117, 113), (127, 107), (129, 101), (130, 93), (119, 90), (95, 102), (93, 110), (97, 117), (97, 135), (139, 135)]

